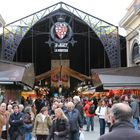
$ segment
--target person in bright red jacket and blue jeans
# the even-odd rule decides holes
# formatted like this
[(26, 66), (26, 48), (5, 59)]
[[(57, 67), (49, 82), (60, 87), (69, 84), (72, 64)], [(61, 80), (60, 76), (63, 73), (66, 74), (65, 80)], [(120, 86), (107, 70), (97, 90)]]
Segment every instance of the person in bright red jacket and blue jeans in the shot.
[(86, 114), (86, 123), (87, 123), (87, 129), (86, 131), (89, 131), (91, 126), (91, 131), (94, 130), (94, 111), (91, 112), (91, 109), (95, 108), (95, 105), (93, 104), (93, 101), (91, 99), (88, 100), (86, 105), (84, 106), (84, 111)]

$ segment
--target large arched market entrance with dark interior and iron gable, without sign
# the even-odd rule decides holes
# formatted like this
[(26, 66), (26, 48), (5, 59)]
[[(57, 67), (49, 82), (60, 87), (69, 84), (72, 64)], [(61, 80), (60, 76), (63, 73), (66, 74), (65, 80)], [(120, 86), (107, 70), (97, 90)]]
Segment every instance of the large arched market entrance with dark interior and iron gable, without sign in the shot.
[[(64, 55), (46, 44), (58, 16), (70, 24), (77, 42)], [(117, 27), (63, 2), (5, 26), (3, 41), (2, 58), (33, 62), (36, 75), (49, 71), (52, 59), (69, 59), (70, 68), (85, 75), (91, 68), (120, 65)]]

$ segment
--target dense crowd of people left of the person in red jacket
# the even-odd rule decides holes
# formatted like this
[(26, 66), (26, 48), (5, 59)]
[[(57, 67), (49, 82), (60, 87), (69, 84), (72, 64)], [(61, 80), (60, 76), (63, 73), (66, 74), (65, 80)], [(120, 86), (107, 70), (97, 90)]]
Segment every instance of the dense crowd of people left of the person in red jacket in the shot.
[[(78, 99), (78, 100), (77, 100)], [(83, 119), (78, 110), (80, 98), (54, 98), (52, 102), (38, 97), (34, 102), (25, 100), (1, 103), (0, 138), (4, 140), (79, 140)], [(79, 101), (79, 105), (78, 105)], [(75, 105), (77, 104), (77, 109)], [(83, 108), (81, 108), (83, 111)]]

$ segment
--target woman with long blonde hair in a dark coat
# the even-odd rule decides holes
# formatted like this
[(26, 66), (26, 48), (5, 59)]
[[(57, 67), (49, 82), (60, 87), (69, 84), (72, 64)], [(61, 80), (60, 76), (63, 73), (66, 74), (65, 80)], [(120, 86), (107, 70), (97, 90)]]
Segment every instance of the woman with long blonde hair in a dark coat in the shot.
[(50, 135), (47, 140), (68, 140), (69, 139), (69, 121), (61, 108), (55, 109), (55, 119), (50, 129)]

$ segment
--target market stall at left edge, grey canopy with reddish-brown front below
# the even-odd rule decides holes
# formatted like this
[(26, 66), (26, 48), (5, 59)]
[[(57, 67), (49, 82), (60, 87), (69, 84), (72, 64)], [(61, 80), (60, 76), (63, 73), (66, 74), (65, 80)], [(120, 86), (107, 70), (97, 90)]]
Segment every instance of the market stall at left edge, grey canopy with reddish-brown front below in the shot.
[(32, 90), (34, 86), (32, 63), (17, 63), (0, 60), (0, 89), (5, 101), (20, 100), (22, 90)]

